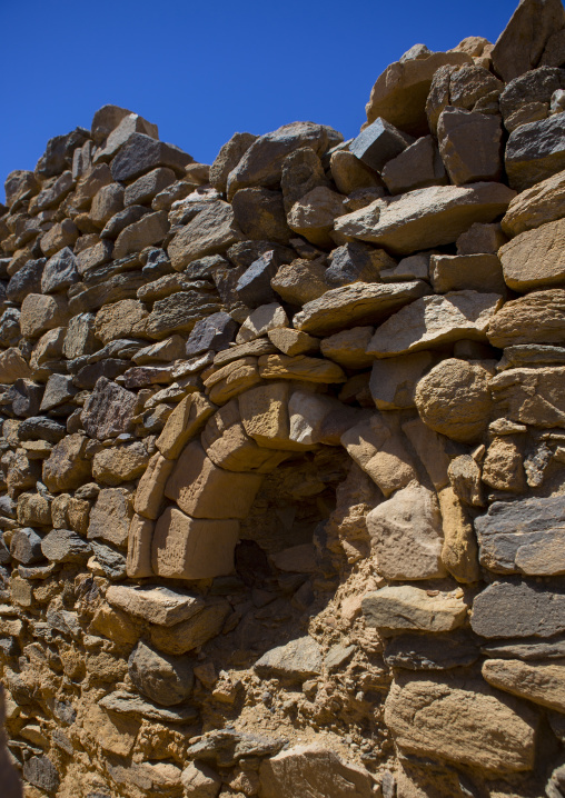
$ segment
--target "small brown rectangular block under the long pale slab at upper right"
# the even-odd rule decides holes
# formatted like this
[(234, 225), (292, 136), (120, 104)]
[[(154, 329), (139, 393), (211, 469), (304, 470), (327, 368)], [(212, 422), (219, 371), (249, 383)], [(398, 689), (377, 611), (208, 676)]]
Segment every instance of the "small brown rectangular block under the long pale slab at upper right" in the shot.
[[(503, 268), (496, 255), (433, 255), (429, 276), (436, 293), (473, 290), (504, 296), (506, 291)], [(506, 283), (509, 286), (507, 280)]]

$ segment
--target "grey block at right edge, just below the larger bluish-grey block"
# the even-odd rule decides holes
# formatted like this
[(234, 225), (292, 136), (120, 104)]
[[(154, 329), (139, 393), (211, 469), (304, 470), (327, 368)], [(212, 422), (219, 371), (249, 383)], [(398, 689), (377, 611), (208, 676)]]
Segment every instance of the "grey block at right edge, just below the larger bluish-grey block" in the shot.
[(475, 598), (470, 626), (487, 638), (553, 637), (565, 631), (565, 593), (548, 585), (489, 585)]

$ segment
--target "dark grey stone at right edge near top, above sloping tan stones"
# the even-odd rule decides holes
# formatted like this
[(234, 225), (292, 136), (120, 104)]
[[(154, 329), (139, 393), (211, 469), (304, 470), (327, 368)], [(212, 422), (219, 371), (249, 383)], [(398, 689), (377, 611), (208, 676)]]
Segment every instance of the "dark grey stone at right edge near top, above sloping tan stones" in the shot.
[(565, 116), (556, 113), (513, 130), (505, 166), (508, 181), (517, 191), (565, 169)]

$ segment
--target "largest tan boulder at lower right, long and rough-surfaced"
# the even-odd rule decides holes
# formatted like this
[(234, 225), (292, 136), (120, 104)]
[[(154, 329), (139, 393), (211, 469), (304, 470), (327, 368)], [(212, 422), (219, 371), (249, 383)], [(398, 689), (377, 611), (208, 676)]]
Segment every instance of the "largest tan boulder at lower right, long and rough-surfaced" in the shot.
[(385, 721), (406, 754), (492, 774), (521, 772), (534, 765), (536, 716), (480, 681), (398, 676), (386, 700)]

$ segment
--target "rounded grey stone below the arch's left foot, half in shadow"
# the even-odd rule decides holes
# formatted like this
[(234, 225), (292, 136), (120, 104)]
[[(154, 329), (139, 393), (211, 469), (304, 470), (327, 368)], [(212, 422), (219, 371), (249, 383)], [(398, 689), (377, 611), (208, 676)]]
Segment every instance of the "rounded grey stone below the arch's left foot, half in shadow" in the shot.
[(163, 707), (182, 704), (192, 691), (192, 667), (186, 657), (153, 651), (138, 642), (128, 660), (131, 681), (151, 701)]

